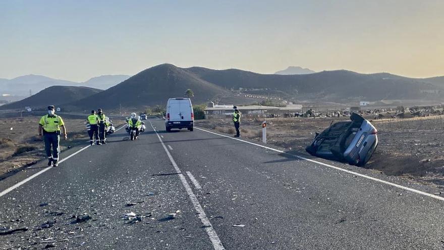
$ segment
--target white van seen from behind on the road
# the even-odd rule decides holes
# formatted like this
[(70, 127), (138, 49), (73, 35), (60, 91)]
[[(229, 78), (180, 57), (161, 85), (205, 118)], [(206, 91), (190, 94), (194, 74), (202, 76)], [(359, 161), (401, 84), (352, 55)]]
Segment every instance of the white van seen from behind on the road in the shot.
[(167, 119), (165, 129), (170, 132), (172, 128), (187, 128), (193, 131), (194, 113), (190, 98), (170, 98), (167, 103)]

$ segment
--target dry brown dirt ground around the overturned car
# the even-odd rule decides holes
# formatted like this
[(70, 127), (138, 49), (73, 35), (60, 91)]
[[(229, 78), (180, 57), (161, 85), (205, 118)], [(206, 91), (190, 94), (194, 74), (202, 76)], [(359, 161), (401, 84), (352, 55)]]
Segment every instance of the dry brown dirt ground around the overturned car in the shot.
[[(366, 119), (371, 119), (370, 117)], [(267, 120), (267, 143), (307, 154), (315, 132), (322, 132), (341, 118), (272, 118)], [(444, 188), (444, 117), (374, 120), (379, 144), (365, 168)], [(262, 140), (262, 119), (244, 118), (241, 136)], [(196, 121), (196, 126), (235, 134), (231, 119)]]

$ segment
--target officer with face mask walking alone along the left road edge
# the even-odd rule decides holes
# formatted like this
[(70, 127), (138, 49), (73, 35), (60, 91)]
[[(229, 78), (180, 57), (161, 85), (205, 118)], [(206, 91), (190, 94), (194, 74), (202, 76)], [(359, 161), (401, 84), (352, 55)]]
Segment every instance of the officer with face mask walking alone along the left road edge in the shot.
[[(60, 154), (60, 128), (63, 128), (63, 135), (65, 140), (68, 138), (66, 133), (65, 123), (62, 117), (55, 115), (54, 106), (48, 106), (48, 114), (40, 118), (38, 123), (38, 135), (43, 134), (43, 140), (45, 142), (46, 156), (48, 157), (48, 166), (53, 164), (54, 167), (59, 166), (59, 154)], [(52, 146), (52, 153), (51, 153)]]

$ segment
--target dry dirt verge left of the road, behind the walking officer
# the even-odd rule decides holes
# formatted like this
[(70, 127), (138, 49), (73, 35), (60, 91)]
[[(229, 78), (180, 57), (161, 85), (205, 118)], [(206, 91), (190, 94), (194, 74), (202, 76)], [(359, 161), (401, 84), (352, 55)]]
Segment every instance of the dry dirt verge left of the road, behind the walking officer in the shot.
[[(63, 117), (63, 116), (62, 116)], [(44, 143), (37, 135), (40, 117), (0, 119), (0, 180), (45, 159)], [(68, 140), (61, 138), (61, 151), (88, 144), (84, 119), (66, 119)], [(124, 121), (115, 121), (116, 129)]]

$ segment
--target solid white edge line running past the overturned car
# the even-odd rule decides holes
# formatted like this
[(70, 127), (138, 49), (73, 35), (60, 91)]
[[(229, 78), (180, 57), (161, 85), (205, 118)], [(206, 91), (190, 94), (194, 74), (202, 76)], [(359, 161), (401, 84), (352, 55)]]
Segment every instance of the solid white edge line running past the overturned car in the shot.
[[(230, 137), (230, 136), (227, 136), (227, 135), (223, 135), (223, 134), (214, 133), (214, 132), (211, 132), (211, 131), (208, 131), (208, 130), (205, 130), (205, 129), (198, 128), (196, 126), (194, 126), (194, 127), (199, 129), (199, 130), (201, 130), (201, 131), (207, 132), (207, 133), (211, 133), (211, 134), (215, 134), (215, 135), (218, 135), (218, 136), (223, 136), (223, 137), (227, 137), (227, 138), (230, 138), (230, 139), (242, 141), (242, 142), (245, 142), (245, 143), (248, 143), (248, 144), (252, 144), (252, 145), (255, 145), (255, 146), (259, 146), (259, 147), (263, 147), (263, 148), (269, 149), (269, 150), (274, 151), (274, 152), (288, 154), (288, 153), (286, 153), (284, 151), (281, 151), (279, 149), (275, 149), (275, 148), (272, 148), (272, 147), (256, 144), (256, 143), (253, 143), (253, 142), (250, 142), (250, 141), (246, 141), (246, 140), (241, 140), (241, 139), (238, 139), (238, 138), (233, 138), (233, 137)], [(302, 156), (297, 156), (297, 155), (292, 155), (292, 156), (297, 157), (297, 158), (299, 158), (301, 160), (309, 161), (309, 162), (316, 163), (316, 164), (319, 164), (319, 165), (322, 165), (322, 166), (325, 166), (325, 167), (333, 168), (333, 169), (336, 169), (336, 170), (339, 170), (339, 171), (343, 171), (343, 172), (350, 173), (350, 174), (353, 174), (353, 175), (356, 175), (356, 176), (360, 176), (360, 177), (363, 177), (363, 178), (366, 178), (366, 179), (370, 179), (370, 180), (373, 180), (373, 181), (377, 181), (377, 182), (380, 182), (380, 183), (384, 183), (384, 184), (387, 184), (387, 185), (398, 187), (398, 188), (401, 188), (401, 189), (404, 189), (404, 190), (407, 190), (407, 191), (410, 191), (410, 192), (414, 192), (414, 193), (425, 195), (425, 196), (428, 196), (428, 197), (431, 197), (431, 198), (439, 199), (439, 201), (444, 201), (444, 197), (437, 196), (437, 195), (434, 195), (434, 194), (431, 194), (431, 193), (427, 193), (427, 192), (423, 192), (423, 191), (420, 191), (420, 190), (417, 190), (417, 189), (413, 189), (413, 188), (410, 188), (410, 187), (406, 187), (406, 186), (402, 186), (402, 185), (399, 185), (399, 184), (395, 184), (395, 183), (392, 183), (390, 181), (384, 181), (384, 180), (381, 180), (381, 179), (378, 179), (378, 178), (374, 178), (374, 177), (371, 177), (371, 176), (368, 176), (368, 175), (365, 175), (365, 174), (356, 173), (356, 172), (353, 172), (353, 171), (350, 171), (350, 170), (347, 170), (347, 169), (331, 166), (331, 165), (328, 165), (326, 163), (322, 163), (322, 162), (318, 162), (318, 161), (315, 161), (315, 160), (311, 160), (311, 159), (308, 159), (308, 158), (305, 158), (305, 157), (302, 157)]]

